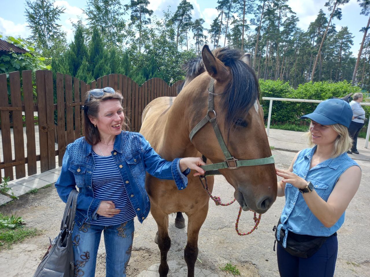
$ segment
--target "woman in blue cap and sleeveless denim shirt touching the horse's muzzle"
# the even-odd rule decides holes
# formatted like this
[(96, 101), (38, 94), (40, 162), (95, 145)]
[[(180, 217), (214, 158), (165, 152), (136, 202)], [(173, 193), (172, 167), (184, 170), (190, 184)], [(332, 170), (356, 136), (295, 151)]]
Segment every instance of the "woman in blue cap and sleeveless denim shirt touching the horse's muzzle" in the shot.
[(276, 228), (277, 264), (282, 277), (331, 277), (337, 259), (337, 230), (356, 194), (361, 169), (348, 155), (350, 105), (342, 99), (321, 102), (307, 133), (310, 147), (299, 151), (282, 177), (277, 196), (285, 206)]

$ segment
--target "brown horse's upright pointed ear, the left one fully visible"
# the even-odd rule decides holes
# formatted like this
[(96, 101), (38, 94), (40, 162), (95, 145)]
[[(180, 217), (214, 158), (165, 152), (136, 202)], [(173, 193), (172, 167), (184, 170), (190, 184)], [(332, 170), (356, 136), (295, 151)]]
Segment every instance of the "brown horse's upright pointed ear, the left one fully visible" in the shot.
[(221, 83), (229, 79), (229, 70), (218, 58), (213, 56), (211, 50), (209, 50), (209, 47), (206, 44), (202, 49), (202, 59), (206, 71), (212, 78)]

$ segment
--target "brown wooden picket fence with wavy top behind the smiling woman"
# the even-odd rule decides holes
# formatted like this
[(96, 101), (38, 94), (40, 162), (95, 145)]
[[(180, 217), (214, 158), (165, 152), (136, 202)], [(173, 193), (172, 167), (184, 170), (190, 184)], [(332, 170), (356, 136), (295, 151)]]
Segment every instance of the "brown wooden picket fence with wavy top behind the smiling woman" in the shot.
[[(36, 80), (36, 96), (33, 93), (33, 77)], [(35, 79), (36, 77), (36, 79)], [(141, 114), (145, 106), (153, 99), (161, 96), (176, 96), (176, 87), (171, 87), (159, 78), (153, 78), (139, 86), (129, 77), (122, 74), (110, 74), (86, 84), (77, 78), (57, 73), (55, 85), (51, 71), (31, 71), (0, 74), (0, 118), (3, 160), (0, 161), (4, 176), (16, 179), (37, 173), (37, 161), (40, 161), (41, 172), (55, 168), (55, 157), (61, 165), (65, 147), (81, 137), (82, 110), (81, 102), (88, 90), (110, 86), (120, 90), (124, 97), (123, 105), (132, 131), (139, 131)], [(8, 88), (10, 99), (8, 100)], [(56, 101), (54, 95), (56, 93)], [(56, 103), (55, 103), (56, 102)], [(55, 122), (54, 111), (57, 111)], [(24, 112), (25, 121), (22, 118)], [(38, 112), (38, 120), (34, 120), (34, 112)], [(40, 154), (36, 155), (35, 124), (38, 123)], [(56, 123), (56, 124), (55, 124)], [(25, 156), (23, 125), (26, 128), (27, 157)], [(13, 139), (11, 139), (13, 127)], [(55, 150), (55, 142), (58, 149)], [(14, 157), (12, 145), (14, 146)]]

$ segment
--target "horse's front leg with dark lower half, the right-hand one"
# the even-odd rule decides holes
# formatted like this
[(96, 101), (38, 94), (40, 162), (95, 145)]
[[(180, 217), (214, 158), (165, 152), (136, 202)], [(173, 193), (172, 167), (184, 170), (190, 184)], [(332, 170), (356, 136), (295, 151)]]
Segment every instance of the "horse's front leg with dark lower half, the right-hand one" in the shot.
[(188, 243), (184, 250), (184, 258), (188, 265), (188, 277), (194, 277), (195, 261), (198, 257), (198, 235), (208, 213), (208, 203), (191, 216), (188, 215)]

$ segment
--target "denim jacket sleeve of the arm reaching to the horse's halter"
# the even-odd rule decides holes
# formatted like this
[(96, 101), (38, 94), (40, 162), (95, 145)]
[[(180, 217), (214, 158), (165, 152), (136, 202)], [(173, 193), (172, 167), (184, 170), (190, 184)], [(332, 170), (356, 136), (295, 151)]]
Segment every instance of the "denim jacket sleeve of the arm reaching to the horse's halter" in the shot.
[(180, 158), (175, 158), (172, 162), (162, 159), (142, 135), (141, 143), (144, 148), (145, 170), (156, 178), (174, 180), (179, 190), (186, 188), (188, 185), (188, 178), (186, 175), (188, 175), (190, 171), (187, 172), (188, 170), (185, 170), (184, 173), (186, 175), (182, 174), (179, 167)]

